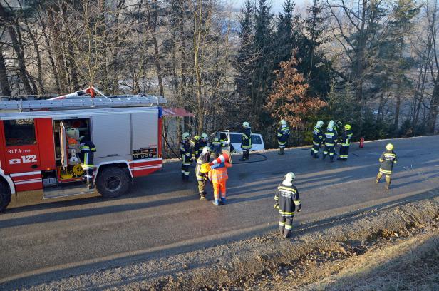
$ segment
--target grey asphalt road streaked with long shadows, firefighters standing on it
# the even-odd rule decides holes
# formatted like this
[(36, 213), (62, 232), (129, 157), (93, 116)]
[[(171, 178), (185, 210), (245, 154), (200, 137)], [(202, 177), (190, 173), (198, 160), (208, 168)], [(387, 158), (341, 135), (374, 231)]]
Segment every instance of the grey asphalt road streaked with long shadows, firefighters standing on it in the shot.
[[(14, 208), (0, 215), (0, 285), (17, 287), (95, 268), (148, 260), (249, 238), (277, 228), (274, 190), (296, 174), (303, 211), (295, 225), (421, 198), (438, 188), (439, 136), (392, 141), (398, 155), (391, 190), (376, 185), (388, 141), (353, 144), (347, 162), (313, 159), (308, 148), (272, 151), (229, 169), (227, 205), (198, 200), (180, 164), (135, 180), (129, 195)], [(235, 158), (237, 160), (237, 158)], [(252, 155), (251, 160), (262, 157)], [(192, 169), (193, 174), (193, 169)], [(384, 179), (383, 179), (384, 180)], [(212, 198), (212, 188), (208, 187)]]

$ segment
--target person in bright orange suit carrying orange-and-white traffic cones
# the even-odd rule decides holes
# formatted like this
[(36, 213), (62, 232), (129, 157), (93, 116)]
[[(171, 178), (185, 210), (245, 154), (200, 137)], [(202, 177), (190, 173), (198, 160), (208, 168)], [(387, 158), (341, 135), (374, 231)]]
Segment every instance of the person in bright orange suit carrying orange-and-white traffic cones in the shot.
[(229, 178), (227, 168), (230, 167), (232, 167), (232, 164), (229, 163), (229, 153), (224, 150), (222, 155), (210, 163), (209, 180), (213, 185), (213, 195), (215, 197), (213, 204), (216, 206), (226, 203), (226, 183)]

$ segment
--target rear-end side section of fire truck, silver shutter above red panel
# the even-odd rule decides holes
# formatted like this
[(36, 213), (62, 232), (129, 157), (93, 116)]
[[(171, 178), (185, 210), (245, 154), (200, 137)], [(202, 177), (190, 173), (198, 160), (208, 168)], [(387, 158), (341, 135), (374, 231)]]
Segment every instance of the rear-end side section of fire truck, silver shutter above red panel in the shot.
[(162, 167), (158, 158), (158, 110), (131, 114), (133, 177), (148, 175)]

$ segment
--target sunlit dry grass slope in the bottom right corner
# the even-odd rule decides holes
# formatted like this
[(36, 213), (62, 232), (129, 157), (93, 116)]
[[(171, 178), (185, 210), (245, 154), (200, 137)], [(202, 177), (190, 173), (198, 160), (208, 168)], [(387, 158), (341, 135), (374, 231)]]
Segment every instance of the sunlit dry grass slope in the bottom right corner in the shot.
[(358, 257), (351, 267), (314, 290), (439, 290), (439, 234), (411, 238)]

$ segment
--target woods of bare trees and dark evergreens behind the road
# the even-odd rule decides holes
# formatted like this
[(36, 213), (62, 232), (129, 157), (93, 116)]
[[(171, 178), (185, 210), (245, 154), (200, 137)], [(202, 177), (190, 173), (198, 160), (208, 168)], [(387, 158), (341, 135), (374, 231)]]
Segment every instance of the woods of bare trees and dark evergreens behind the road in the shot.
[(366, 140), (436, 133), (435, 0), (0, 0), (0, 94), (95, 86), (150, 93), (195, 114), (182, 131), (239, 130), (309, 143), (321, 119)]

